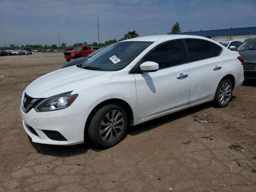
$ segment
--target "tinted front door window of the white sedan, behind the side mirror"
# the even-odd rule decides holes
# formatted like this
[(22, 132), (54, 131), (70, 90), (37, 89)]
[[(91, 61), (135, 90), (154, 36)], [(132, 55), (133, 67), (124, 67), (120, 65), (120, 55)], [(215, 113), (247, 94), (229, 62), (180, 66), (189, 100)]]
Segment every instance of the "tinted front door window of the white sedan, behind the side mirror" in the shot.
[(159, 65), (159, 69), (176, 66), (183, 63), (181, 41), (163, 44), (148, 54), (143, 62), (152, 61)]

